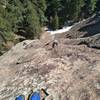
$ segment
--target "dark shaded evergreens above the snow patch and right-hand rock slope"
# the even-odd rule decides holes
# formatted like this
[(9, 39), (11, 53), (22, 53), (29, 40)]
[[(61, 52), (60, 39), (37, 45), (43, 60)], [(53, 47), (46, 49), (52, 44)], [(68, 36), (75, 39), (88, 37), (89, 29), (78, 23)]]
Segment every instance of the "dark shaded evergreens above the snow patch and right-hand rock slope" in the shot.
[[(100, 0), (46, 0), (47, 10), (46, 15), (51, 25), (51, 20), (57, 12), (60, 26), (64, 25), (65, 21), (73, 22), (89, 17), (100, 10)], [(97, 4), (98, 3), (98, 4)], [(96, 6), (97, 4), (97, 6)], [(52, 25), (51, 25), (52, 26)]]

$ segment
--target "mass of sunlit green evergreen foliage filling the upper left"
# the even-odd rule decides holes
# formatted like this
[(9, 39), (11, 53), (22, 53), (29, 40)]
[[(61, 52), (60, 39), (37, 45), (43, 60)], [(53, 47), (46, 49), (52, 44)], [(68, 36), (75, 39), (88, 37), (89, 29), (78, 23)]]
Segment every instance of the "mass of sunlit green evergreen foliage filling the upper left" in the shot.
[[(30, 39), (39, 37), (41, 29), (37, 14), (38, 5), (35, 5), (35, 2), (31, 0), (5, 1), (7, 2), (5, 7), (3, 7), (4, 1), (0, 3), (0, 29), (4, 32), (3, 34), (8, 38), (12, 37), (11, 33), (20, 33)], [(42, 5), (41, 2), (40, 4)], [(46, 8), (41, 7), (41, 9), (45, 10)]]

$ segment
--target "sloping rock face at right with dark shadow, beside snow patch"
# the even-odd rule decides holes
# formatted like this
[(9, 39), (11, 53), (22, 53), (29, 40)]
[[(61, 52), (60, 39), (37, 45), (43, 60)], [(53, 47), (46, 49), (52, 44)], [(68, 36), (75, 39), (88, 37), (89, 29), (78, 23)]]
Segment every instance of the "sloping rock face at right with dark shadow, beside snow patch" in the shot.
[(100, 49), (100, 14), (76, 23), (66, 33), (56, 35), (58, 38), (70, 38), (74, 44), (84, 44), (91, 48)]

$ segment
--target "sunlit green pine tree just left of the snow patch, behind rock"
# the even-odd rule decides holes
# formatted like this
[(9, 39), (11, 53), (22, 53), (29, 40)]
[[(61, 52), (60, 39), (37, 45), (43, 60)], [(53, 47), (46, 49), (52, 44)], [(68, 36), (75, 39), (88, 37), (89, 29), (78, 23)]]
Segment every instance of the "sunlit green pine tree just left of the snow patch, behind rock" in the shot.
[(23, 32), (26, 38), (39, 37), (40, 23), (35, 5), (31, 1), (26, 1), (23, 5), (25, 10), (22, 12), (23, 20), (18, 25), (19, 31)]

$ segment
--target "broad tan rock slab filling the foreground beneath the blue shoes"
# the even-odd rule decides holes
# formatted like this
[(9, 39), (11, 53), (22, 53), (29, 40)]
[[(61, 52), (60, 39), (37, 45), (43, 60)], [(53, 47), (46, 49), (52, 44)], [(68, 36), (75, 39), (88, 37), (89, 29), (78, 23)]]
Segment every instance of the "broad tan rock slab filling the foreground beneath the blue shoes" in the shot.
[(41, 88), (45, 100), (100, 100), (100, 51), (58, 41), (55, 48), (43, 39), (23, 41), (0, 57), (0, 100)]

